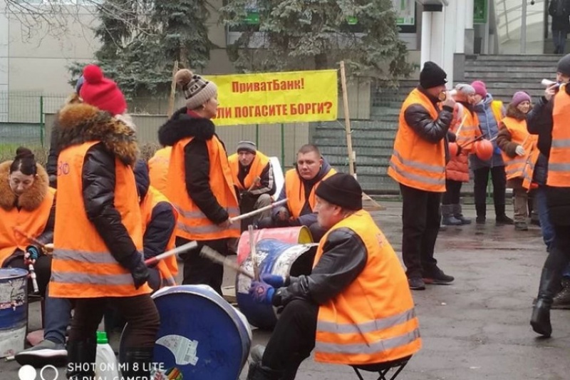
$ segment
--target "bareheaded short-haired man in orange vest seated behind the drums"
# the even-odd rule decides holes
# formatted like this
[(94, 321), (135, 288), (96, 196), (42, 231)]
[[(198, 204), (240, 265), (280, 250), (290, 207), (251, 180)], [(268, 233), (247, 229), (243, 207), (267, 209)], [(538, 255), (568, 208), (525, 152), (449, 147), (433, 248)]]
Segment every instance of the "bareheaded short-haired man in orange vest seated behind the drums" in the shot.
[(315, 190), (322, 180), (336, 173), (323, 160), (315, 145), (306, 144), (297, 152), (296, 168), (285, 173), (285, 185), (278, 200), (287, 198), (287, 204), (277, 207), (272, 217), (259, 220), (259, 228), (292, 227), (306, 225), (313, 240), (318, 242), (326, 232), (318, 225), (314, 208)]

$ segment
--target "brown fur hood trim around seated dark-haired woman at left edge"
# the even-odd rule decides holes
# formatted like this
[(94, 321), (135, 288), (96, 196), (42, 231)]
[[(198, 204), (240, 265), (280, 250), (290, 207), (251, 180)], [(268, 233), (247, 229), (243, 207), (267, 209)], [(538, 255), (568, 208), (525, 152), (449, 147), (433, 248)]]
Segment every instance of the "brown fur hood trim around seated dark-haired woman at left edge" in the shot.
[(36, 180), (33, 181), (31, 187), (24, 194), (16, 197), (16, 194), (10, 188), (8, 180), (12, 162), (10, 160), (0, 163), (0, 207), (4, 210), (11, 210), (14, 206), (21, 207), (26, 211), (36, 210), (48, 193), (48, 173), (43, 166), (36, 164), (36, 168), (38, 168)]

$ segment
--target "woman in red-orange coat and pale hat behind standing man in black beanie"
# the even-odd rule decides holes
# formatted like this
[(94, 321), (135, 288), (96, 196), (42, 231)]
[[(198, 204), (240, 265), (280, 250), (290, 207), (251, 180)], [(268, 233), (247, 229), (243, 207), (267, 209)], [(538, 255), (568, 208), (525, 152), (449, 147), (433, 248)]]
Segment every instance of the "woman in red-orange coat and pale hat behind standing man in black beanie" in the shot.
[[(442, 225), (469, 225), (470, 219), (463, 216), (460, 204), (461, 186), (469, 182), (469, 160), (467, 155), (472, 150), (472, 145), (466, 145), (472, 140), (477, 128), (477, 117), (473, 111), (475, 103), (475, 88), (460, 83), (455, 86), (453, 98), (457, 102), (454, 110), (454, 121), (450, 131), (455, 133), (455, 143), (457, 143), (457, 154), (450, 157), (445, 166), (445, 194), (441, 200)], [(461, 129), (459, 129), (461, 128)], [(459, 133), (457, 131), (459, 130)]]

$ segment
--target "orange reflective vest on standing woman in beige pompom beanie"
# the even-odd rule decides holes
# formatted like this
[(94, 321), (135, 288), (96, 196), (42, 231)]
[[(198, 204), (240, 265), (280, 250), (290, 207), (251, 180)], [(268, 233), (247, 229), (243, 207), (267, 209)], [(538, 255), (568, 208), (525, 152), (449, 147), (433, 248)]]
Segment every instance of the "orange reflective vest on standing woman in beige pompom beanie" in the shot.
[[(168, 168), (168, 188), (166, 196), (178, 211), (176, 235), (188, 240), (217, 240), (226, 237), (239, 237), (239, 222), (229, 228), (219, 227), (209, 220), (190, 198), (186, 190), (185, 146), (192, 138), (183, 138), (172, 147)], [(217, 136), (206, 140), (209, 155), (209, 187), (220, 206), (227, 210), (229, 217), (239, 215), (237, 196), (229, 169), (226, 150)]]

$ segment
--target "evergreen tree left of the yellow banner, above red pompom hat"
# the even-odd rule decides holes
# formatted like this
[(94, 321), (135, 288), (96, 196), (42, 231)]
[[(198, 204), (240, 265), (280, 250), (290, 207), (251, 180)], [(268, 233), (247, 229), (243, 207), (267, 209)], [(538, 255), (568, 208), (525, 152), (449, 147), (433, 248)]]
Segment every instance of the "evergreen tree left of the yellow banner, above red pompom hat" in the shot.
[[(192, 69), (209, 61), (208, 16), (205, 1), (105, 0), (98, 7), (95, 61), (127, 98), (165, 97), (174, 61)], [(73, 63), (71, 73), (78, 77), (84, 65)]]

